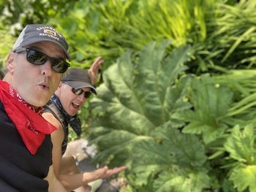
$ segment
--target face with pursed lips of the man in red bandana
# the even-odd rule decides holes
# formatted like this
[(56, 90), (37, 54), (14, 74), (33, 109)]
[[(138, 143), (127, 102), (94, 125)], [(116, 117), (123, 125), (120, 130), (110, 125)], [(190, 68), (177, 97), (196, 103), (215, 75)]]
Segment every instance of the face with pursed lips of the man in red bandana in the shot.
[[(39, 42), (29, 47), (53, 58), (65, 58), (61, 47), (53, 42)], [(22, 99), (34, 107), (44, 106), (58, 88), (62, 74), (51, 69), (50, 61), (42, 65), (29, 63), (26, 60), (26, 51), (11, 54), (13, 55), (10, 72), (12, 88)]]

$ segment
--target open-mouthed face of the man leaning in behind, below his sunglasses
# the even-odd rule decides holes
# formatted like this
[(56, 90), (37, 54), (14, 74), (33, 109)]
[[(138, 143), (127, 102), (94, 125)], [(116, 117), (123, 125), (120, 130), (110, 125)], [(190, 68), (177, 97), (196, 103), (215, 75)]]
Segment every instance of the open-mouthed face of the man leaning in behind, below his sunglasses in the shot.
[[(83, 91), (91, 91), (91, 88), (83, 88)], [(76, 95), (72, 92), (72, 87), (65, 83), (61, 83), (59, 86), (59, 94), (57, 96), (61, 101), (62, 107), (70, 116), (76, 115), (86, 102), (84, 93)]]

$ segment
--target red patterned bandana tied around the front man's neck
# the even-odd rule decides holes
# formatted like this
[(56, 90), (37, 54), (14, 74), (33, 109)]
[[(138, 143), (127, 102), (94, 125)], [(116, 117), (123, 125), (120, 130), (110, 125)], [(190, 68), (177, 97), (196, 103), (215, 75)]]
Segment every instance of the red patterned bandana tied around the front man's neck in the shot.
[(7, 83), (0, 80), (0, 101), (8, 117), (15, 124), (23, 142), (33, 155), (45, 139), (56, 127), (42, 118), (42, 108), (35, 110), (33, 106), (20, 98), (18, 93)]

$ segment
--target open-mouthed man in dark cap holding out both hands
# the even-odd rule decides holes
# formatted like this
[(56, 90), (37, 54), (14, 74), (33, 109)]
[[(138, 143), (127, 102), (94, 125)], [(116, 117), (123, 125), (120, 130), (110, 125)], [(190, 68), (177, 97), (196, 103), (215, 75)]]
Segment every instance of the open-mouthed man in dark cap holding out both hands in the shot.
[[(98, 58), (89, 69), (93, 82), (97, 80), (97, 72), (101, 63), (101, 58)], [(67, 191), (76, 188), (79, 188), (78, 191), (90, 191), (87, 184), (91, 181), (110, 177), (126, 169), (126, 166), (115, 169), (108, 169), (108, 166), (105, 166), (94, 172), (80, 173), (74, 158), (61, 158), (67, 147), (68, 126), (71, 126), (78, 135), (81, 134), (78, 110), (83, 107), (91, 93), (97, 94), (96, 89), (91, 85), (89, 74), (82, 69), (69, 69), (62, 77), (59, 88), (53, 94), (43, 113), (43, 117), (57, 128), (51, 134), (53, 169)]]

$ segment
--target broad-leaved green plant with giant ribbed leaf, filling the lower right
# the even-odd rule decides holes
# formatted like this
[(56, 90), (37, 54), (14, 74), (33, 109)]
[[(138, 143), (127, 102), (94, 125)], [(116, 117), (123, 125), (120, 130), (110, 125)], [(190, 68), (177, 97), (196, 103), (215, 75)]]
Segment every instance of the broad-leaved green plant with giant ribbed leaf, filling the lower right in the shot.
[(169, 46), (129, 51), (105, 71), (92, 100), (95, 161), (127, 164), (134, 191), (254, 191), (255, 96), (244, 91), (255, 71), (189, 75), (194, 47)]

